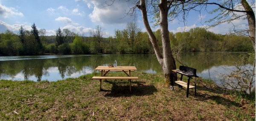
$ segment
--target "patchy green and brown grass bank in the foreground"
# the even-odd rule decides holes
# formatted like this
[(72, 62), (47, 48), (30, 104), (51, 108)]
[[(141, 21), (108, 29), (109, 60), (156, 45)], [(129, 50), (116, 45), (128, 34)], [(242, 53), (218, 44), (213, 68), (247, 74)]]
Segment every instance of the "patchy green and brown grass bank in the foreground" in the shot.
[[(99, 74), (97, 74), (99, 75)], [(122, 75), (110, 72), (108, 75)], [(56, 82), (0, 81), (0, 121), (255, 121), (255, 93), (224, 92), (212, 81), (190, 89), (170, 90), (163, 75), (133, 72), (132, 92), (126, 80), (91, 80), (93, 74)]]

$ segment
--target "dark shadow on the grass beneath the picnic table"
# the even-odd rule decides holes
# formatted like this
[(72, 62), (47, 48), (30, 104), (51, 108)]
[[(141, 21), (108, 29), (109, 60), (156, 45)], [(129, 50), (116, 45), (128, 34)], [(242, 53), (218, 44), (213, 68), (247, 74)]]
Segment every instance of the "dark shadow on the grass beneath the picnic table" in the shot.
[(152, 95), (154, 92), (157, 92), (157, 89), (154, 85), (145, 85), (143, 81), (132, 81), (131, 82), (131, 92), (130, 92), (130, 83), (128, 81), (105, 81), (109, 84), (112, 84), (111, 90), (102, 90), (106, 93), (107, 97), (131, 97), (131, 96), (143, 96), (143, 95)]

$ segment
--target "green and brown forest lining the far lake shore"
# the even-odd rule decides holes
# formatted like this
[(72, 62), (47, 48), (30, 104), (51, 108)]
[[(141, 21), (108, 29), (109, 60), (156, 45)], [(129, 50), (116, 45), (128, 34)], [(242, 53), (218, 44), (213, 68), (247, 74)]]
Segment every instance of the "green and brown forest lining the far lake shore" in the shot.
[[(20, 26), (15, 34), (7, 30), (0, 33), (0, 55), (68, 55), (154, 53), (147, 32), (137, 23), (127, 23), (125, 29), (115, 30), (114, 37), (106, 37), (102, 26), (90, 31), (90, 37), (79, 36), (68, 29), (58, 28), (55, 36), (46, 36), (46, 30), (38, 30), (35, 23), (31, 31)], [(160, 29), (154, 32), (162, 46)], [(173, 52), (252, 52), (250, 39), (244, 35), (215, 34), (205, 28), (193, 28), (189, 32), (169, 32)], [(161, 49), (162, 50), (162, 49)]]

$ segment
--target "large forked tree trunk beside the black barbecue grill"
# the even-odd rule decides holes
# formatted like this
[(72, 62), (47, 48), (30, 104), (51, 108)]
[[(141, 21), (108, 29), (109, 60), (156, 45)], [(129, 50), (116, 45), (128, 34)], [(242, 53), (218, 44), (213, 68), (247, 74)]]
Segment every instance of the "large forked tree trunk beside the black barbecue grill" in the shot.
[(172, 50), (169, 39), (168, 31), (168, 7), (167, 0), (160, 0), (160, 27), (161, 27), (161, 36), (163, 43), (163, 55), (161, 54), (157, 39), (149, 26), (147, 9), (145, 6), (145, 0), (140, 0), (140, 5), (137, 6), (142, 12), (142, 18), (144, 26), (148, 32), (149, 39), (154, 47), (154, 52), (157, 56), (157, 60), (163, 68), (163, 74), (165, 77), (165, 82), (167, 85), (172, 84), (173, 81), (177, 78), (176, 74), (172, 72), (172, 69), (176, 69), (175, 60), (172, 56)]

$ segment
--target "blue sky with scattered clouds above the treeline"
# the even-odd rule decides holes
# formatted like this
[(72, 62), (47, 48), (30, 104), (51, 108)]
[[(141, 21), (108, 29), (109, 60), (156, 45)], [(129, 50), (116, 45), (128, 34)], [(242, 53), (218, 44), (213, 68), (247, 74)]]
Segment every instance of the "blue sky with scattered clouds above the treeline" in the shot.
[[(55, 31), (60, 28), (69, 29), (81, 36), (90, 36), (90, 31), (99, 25), (104, 28), (105, 37), (114, 37), (116, 29), (123, 30), (127, 23), (132, 21), (135, 21), (142, 31), (146, 32), (140, 14), (125, 17), (125, 12), (129, 10), (129, 7), (134, 6), (133, 0), (130, 2), (116, 0), (111, 6), (106, 6), (105, 1), (110, 0), (0, 0), (0, 33), (8, 29), (17, 34), (20, 26), (30, 31), (32, 24), (35, 23), (38, 30), (46, 29), (46, 35), (56, 35)], [(255, 8), (253, 9), (255, 11)], [(195, 27), (207, 26), (210, 23), (204, 23), (204, 21), (214, 15), (204, 11), (201, 15), (191, 12), (186, 26), (174, 20), (169, 23), (169, 32), (183, 32)], [(246, 20), (235, 22), (247, 23)], [(153, 23), (150, 24), (153, 25)], [(209, 31), (225, 34), (230, 26), (231, 24), (224, 23)], [(160, 27), (152, 27), (153, 31), (157, 29)]]

